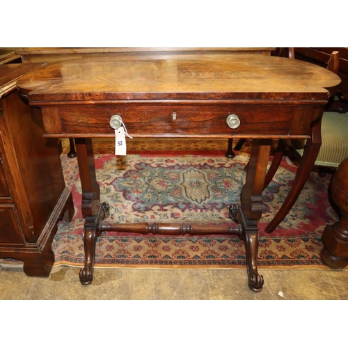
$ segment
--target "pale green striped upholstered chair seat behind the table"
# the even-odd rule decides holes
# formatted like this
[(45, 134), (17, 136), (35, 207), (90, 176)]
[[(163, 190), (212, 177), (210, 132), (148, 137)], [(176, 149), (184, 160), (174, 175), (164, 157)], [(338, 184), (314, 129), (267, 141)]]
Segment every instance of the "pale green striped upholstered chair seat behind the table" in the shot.
[[(292, 141), (293, 148), (303, 155), (306, 141)], [(348, 113), (324, 112), (322, 118), (322, 147), (316, 166), (338, 167), (348, 157)]]

